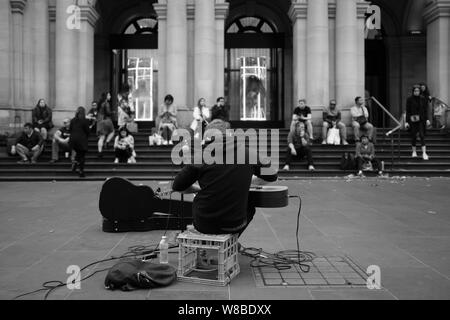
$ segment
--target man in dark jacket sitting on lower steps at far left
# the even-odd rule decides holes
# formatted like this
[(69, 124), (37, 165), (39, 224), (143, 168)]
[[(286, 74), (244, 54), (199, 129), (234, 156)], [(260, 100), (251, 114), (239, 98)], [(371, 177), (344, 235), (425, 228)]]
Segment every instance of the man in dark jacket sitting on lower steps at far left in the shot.
[(13, 154), (18, 154), (22, 160), (18, 163), (28, 163), (28, 157), (31, 158), (31, 163), (35, 164), (42, 153), (44, 140), (42, 136), (33, 129), (31, 123), (24, 126), (23, 134), (16, 140), (16, 144), (12, 148)]

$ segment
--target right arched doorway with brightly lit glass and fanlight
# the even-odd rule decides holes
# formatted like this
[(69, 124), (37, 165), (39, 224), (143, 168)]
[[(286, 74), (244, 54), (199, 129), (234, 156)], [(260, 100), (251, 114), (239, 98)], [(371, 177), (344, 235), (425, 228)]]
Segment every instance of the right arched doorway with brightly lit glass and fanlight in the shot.
[(240, 126), (283, 126), (285, 34), (259, 16), (235, 18), (225, 35), (225, 95)]

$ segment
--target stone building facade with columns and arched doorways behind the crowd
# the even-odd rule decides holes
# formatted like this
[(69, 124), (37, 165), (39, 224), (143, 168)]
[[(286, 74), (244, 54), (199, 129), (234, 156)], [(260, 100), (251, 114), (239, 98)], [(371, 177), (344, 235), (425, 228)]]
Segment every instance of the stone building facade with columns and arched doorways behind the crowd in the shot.
[(400, 117), (419, 82), (449, 102), (449, 30), (450, 0), (0, 0), (0, 130), (128, 90), (139, 121), (172, 94), (185, 126), (219, 96), (241, 125), (285, 127), (302, 98), (316, 125), (356, 96)]

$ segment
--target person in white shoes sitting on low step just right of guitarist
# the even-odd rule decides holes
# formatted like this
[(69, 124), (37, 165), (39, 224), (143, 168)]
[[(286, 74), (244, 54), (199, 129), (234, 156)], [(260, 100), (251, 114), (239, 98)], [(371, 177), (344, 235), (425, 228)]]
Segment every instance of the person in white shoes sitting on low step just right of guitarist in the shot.
[(286, 155), (286, 165), (284, 166), (284, 171), (290, 170), (290, 165), (293, 158), (298, 158), (302, 160), (306, 157), (308, 162), (308, 170), (314, 171), (314, 161), (311, 151), (311, 139), (309, 134), (306, 132), (305, 124), (300, 121), (299, 116), (294, 115), (294, 124), (291, 127), (291, 131), (288, 135), (288, 150)]

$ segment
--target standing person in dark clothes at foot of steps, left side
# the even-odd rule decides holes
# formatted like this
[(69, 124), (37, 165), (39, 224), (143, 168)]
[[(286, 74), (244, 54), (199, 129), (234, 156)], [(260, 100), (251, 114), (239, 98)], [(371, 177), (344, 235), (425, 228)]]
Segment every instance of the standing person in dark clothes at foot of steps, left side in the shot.
[(70, 122), (69, 145), (76, 152), (72, 171), (76, 171), (78, 167), (80, 178), (85, 177), (84, 164), (86, 153), (88, 152), (89, 132), (89, 120), (86, 119), (86, 110), (83, 107), (79, 107), (75, 118)]

